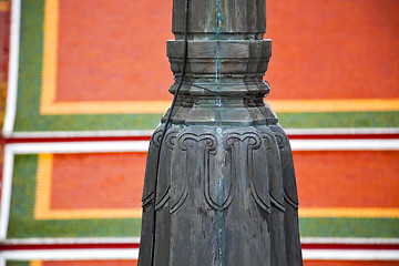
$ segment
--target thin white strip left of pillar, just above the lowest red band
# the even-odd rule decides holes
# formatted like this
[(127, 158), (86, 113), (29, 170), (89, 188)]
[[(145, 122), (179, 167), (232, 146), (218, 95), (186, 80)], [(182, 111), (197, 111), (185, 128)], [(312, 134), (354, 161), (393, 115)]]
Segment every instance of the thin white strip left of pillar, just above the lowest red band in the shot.
[(6, 245), (140, 244), (140, 237), (11, 238)]

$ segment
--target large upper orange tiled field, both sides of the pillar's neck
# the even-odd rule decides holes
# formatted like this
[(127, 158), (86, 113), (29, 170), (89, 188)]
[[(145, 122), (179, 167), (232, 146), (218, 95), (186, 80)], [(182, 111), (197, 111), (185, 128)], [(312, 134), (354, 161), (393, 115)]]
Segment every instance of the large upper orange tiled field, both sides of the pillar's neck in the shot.
[[(269, 99), (399, 96), (397, 0), (280, 0), (267, 8)], [(57, 101), (171, 99), (171, 0), (61, 0)]]

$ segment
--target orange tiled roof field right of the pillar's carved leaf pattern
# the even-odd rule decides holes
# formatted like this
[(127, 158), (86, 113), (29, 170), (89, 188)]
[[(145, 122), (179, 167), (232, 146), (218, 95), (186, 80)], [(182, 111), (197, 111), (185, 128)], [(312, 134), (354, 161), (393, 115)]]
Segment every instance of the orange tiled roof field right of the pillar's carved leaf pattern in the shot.
[(398, 207), (399, 152), (294, 152), (300, 207)]

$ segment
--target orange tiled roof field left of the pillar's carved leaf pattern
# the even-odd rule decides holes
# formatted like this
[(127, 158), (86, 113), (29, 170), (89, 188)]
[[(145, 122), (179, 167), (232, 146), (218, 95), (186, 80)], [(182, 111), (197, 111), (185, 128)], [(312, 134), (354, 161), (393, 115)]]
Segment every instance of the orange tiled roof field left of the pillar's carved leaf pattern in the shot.
[(146, 153), (54, 154), (52, 209), (141, 208)]

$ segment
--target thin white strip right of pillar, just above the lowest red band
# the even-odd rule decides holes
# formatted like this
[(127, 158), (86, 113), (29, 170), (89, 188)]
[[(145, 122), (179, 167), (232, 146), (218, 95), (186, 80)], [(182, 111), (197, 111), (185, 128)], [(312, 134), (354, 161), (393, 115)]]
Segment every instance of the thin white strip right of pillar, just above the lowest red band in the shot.
[(300, 237), (301, 244), (399, 244), (399, 238)]

